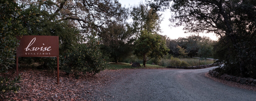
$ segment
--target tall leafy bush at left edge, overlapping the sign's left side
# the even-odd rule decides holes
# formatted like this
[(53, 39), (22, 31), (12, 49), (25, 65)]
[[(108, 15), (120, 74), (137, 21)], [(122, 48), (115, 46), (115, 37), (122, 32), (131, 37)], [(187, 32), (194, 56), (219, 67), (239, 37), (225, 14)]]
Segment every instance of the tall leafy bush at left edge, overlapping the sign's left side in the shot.
[(0, 72), (11, 68), (15, 62), (16, 47), (19, 45), (17, 35), (26, 31), (20, 23), (20, 7), (13, 0), (1, 2), (0, 10)]

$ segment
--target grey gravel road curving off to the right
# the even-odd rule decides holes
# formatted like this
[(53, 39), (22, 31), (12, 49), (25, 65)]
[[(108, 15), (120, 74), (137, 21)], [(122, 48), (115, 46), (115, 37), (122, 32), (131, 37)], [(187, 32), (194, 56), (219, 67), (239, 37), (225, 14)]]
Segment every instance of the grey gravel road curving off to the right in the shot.
[(255, 100), (256, 92), (216, 82), (205, 69), (124, 69), (93, 100)]

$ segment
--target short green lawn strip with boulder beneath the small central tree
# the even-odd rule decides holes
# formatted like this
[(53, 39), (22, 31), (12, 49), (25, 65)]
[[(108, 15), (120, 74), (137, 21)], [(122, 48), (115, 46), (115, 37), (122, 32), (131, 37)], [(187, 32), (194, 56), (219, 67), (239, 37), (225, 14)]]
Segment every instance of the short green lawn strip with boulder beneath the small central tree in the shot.
[[(141, 64), (142, 66), (143, 64)], [(146, 67), (142, 66), (142, 67), (132, 67), (132, 65), (128, 64), (128, 63), (109, 63), (109, 66), (106, 69), (111, 69), (111, 70), (118, 70), (118, 69), (135, 69), (135, 68), (164, 68), (162, 66), (158, 66), (158, 65), (150, 65), (150, 64), (146, 64)]]

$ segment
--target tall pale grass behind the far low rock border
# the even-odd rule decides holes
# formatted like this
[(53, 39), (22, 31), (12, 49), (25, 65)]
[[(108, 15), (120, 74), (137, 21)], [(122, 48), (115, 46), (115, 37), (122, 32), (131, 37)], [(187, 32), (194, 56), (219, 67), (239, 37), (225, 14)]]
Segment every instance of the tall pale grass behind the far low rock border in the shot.
[[(200, 60), (200, 65), (207, 65), (214, 63), (213, 60)], [(162, 59), (159, 66), (198, 66), (199, 59), (198, 58), (174, 58), (171, 57), (170, 59)]]

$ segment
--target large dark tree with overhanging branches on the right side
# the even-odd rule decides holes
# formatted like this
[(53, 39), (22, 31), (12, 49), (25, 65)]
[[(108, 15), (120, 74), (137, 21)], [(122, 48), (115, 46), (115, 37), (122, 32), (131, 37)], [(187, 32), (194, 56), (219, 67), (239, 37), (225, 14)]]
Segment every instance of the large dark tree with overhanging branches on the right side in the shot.
[(256, 78), (254, 0), (154, 0), (149, 3), (157, 10), (162, 6), (170, 8), (175, 26), (183, 25), (188, 32), (214, 32), (220, 36), (219, 45), (225, 48), (218, 50), (225, 53), (218, 61), (225, 63), (225, 72)]

